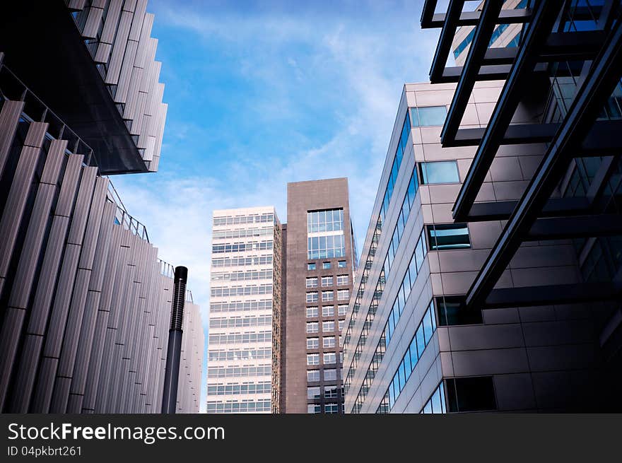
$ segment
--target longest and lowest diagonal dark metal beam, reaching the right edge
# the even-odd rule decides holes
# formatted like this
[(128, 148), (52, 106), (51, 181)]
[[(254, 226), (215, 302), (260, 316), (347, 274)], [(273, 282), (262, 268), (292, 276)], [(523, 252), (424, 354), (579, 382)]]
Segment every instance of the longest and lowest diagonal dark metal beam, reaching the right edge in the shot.
[[(548, 1), (542, 3), (549, 4)], [(578, 89), (562, 127), (551, 141), (527, 191), (469, 288), (467, 306), (475, 307), (486, 301), (522, 239), (532, 228), (536, 215), (551, 197), (558, 180), (568, 168), (569, 153), (574, 153), (575, 147), (580, 146), (587, 136), (590, 126), (619, 82), (621, 74), (622, 21), (618, 21), (609, 33), (604, 49), (592, 63), (584, 83)]]

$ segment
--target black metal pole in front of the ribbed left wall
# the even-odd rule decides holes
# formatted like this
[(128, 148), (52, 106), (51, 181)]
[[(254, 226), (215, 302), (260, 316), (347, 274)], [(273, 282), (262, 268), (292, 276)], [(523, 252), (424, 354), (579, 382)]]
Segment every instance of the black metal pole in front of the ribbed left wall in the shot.
[(168, 330), (168, 350), (166, 351), (166, 369), (162, 394), (162, 413), (174, 414), (177, 409), (177, 382), (180, 377), (180, 358), (182, 354), (182, 324), (184, 322), (184, 303), (186, 301), (186, 283), (188, 269), (175, 267), (175, 279), (170, 311), (170, 329)]

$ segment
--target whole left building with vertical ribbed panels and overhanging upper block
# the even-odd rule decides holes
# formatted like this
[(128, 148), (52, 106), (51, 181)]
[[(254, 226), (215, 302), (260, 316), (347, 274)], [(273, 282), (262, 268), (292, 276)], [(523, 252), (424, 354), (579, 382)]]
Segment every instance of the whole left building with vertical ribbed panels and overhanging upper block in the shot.
[[(13, 1), (0, 27), (0, 409), (158, 413), (172, 267), (104, 175), (157, 170), (146, 1)], [(179, 411), (198, 411), (184, 320)]]

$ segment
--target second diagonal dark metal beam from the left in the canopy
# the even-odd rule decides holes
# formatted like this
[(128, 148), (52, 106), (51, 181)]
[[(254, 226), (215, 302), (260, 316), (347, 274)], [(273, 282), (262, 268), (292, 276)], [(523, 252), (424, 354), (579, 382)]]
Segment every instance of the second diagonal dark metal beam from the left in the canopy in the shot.
[(501, 5), (502, 2), (500, 1), (486, 1), (483, 5), (479, 22), (475, 28), (473, 41), (471, 42), (471, 47), (469, 47), (469, 53), (467, 54), (466, 61), (464, 61), (462, 74), (460, 74), (460, 79), (454, 92), (450, 110), (447, 113), (445, 124), (440, 133), (440, 140), (443, 144), (454, 139), (460, 122), (462, 122), (464, 110), (467, 109), (467, 103), (479, 74), (479, 68), (486, 56), (488, 44), (491, 42), (495, 21), (501, 11)]

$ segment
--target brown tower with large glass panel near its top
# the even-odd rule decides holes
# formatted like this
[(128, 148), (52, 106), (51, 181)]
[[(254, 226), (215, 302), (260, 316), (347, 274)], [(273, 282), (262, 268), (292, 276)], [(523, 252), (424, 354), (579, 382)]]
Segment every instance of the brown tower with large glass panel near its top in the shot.
[(284, 413), (343, 413), (341, 329), (356, 269), (345, 178), (288, 183)]

